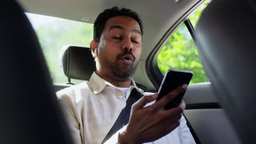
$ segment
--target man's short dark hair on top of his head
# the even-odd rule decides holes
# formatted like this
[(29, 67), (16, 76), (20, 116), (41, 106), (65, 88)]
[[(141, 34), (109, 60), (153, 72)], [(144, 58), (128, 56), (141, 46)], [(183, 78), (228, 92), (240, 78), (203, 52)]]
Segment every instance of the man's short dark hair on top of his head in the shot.
[(138, 22), (139, 27), (141, 28), (141, 34), (143, 35), (142, 21), (139, 15), (135, 11), (131, 9), (126, 9), (126, 8), (119, 9), (118, 7), (113, 7), (111, 9), (105, 9), (102, 13), (98, 15), (97, 19), (95, 20), (94, 22), (94, 40), (95, 41), (100, 41), (101, 34), (103, 32), (103, 29), (106, 25), (107, 20), (116, 16), (127, 16), (135, 19)]

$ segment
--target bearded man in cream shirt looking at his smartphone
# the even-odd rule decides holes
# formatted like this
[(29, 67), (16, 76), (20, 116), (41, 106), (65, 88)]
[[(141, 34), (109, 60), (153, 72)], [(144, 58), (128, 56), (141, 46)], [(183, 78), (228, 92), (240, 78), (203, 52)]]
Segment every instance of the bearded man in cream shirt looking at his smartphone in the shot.
[[(90, 44), (96, 72), (89, 82), (57, 92), (77, 143), (195, 143), (182, 116), (184, 102), (163, 109), (187, 85), (155, 102), (157, 94), (141, 92), (131, 79), (141, 56), (142, 35), (142, 22), (130, 9), (113, 7), (98, 15)], [(139, 94), (144, 97), (129, 107)], [(122, 123), (125, 119), (128, 124)], [(120, 123), (127, 125), (121, 129)]]

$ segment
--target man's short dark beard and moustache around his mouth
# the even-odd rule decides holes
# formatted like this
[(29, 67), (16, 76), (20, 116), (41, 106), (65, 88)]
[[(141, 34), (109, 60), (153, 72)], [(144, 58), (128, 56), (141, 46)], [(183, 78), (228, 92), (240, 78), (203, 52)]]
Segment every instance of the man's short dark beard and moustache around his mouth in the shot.
[[(131, 64), (120, 63), (122, 60), (121, 57), (125, 55), (132, 56)], [(117, 56), (117, 59), (114, 62), (104, 61), (100, 62), (103, 69), (105, 69), (109, 76), (115, 77), (119, 80), (128, 80), (135, 73), (135, 70), (138, 66), (138, 62), (135, 61), (135, 56), (130, 51), (124, 51)]]

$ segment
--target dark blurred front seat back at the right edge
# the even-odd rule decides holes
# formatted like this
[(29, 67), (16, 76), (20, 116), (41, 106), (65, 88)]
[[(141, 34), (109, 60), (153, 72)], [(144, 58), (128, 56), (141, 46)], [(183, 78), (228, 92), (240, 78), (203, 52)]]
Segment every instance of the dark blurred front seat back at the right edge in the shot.
[(214, 0), (195, 29), (206, 74), (242, 143), (256, 137), (255, 21), (247, 1)]

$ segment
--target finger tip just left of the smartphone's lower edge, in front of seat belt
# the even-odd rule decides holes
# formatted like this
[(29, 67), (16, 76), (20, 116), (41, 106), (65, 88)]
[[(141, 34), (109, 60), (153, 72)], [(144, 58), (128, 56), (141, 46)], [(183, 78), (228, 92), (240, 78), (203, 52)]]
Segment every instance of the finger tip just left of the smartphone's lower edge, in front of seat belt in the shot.
[(153, 95), (145, 95), (141, 99), (139, 99), (135, 104), (132, 105), (132, 109), (138, 110), (141, 109), (147, 103), (150, 103), (158, 98), (158, 94), (155, 93)]

